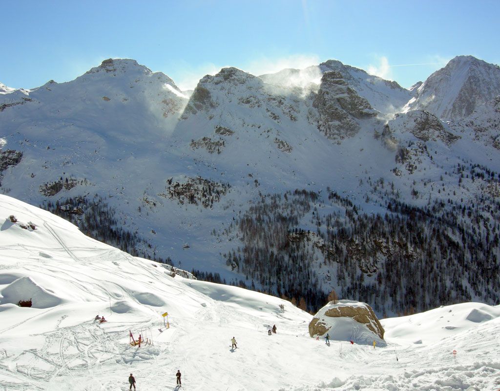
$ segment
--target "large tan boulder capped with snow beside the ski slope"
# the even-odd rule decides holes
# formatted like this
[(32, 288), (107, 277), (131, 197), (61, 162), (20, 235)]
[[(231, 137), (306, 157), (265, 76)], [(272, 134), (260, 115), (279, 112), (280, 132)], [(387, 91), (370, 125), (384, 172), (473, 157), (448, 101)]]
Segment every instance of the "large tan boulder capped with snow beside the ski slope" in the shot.
[(359, 301), (330, 301), (322, 307), (309, 323), (309, 335), (315, 337), (328, 333), (330, 339), (353, 341), (360, 344), (385, 345), (383, 327), (371, 307)]

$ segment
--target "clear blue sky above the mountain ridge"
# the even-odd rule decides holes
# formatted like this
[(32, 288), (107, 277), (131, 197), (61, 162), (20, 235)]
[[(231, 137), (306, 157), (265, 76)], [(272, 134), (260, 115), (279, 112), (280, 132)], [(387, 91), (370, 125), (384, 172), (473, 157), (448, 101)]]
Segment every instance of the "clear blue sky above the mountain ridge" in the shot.
[[(500, 64), (497, 0), (1, 2), (0, 82), (66, 82), (132, 58), (192, 88), (234, 66), (253, 74), (328, 59), (409, 87), (457, 55)], [(424, 65), (414, 65), (424, 64)]]

